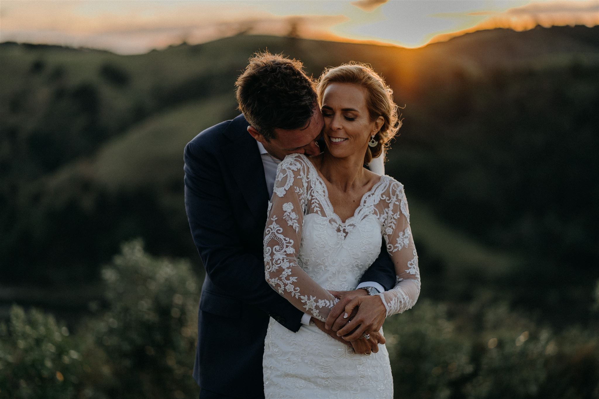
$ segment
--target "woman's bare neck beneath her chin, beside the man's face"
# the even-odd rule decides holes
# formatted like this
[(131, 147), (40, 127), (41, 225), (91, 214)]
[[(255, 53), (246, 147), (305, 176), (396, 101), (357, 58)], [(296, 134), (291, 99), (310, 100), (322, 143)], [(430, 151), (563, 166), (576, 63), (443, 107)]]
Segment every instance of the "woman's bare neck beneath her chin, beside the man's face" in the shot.
[(364, 156), (357, 154), (346, 158), (335, 158), (325, 151), (320, 159), (320, 173), (343, 191), (364, 185)]

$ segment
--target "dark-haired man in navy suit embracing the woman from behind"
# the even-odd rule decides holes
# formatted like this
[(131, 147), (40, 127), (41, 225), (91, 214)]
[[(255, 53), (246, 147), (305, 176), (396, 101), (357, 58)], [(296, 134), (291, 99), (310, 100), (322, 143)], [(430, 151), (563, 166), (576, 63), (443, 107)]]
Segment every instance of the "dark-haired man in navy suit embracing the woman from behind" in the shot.
[[(320, 153), (323, 127), (314, 81), (301, 62), (269, 53), (250, 59), (237, 80), (242, 115), (199, 133), (184, 150), (185, 208), (206, 276), (198, 312), (193, 377), (200, 398), (263, 398), (262, 355), (269, 316), (291, 331), (310, 320), (264, 279), (262, 239), (277, 165), (286, 155)], [(395, 284), (386, 249), (350, 294)], [(337, 328), (338, 329), (338, 328)], [(377, 334), (366, 341), (377, 351)]]

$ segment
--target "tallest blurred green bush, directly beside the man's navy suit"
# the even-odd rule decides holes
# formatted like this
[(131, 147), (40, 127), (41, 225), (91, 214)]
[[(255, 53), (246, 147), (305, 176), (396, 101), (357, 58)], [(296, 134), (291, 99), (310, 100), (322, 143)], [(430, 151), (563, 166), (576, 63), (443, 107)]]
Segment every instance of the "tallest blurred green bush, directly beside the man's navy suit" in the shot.
[(83, 331), (107, 355), (109, 396), (193, 397), (199, 285), (189, 263), (150, 257), (134, 240), (102, 279), (106, 308)]

